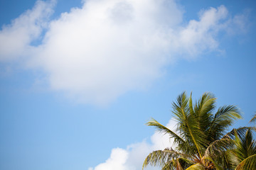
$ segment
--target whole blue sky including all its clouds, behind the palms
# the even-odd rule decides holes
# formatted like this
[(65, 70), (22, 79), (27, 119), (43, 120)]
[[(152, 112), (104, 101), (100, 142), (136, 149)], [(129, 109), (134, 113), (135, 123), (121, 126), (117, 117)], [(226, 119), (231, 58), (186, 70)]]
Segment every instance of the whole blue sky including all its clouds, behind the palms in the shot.
[(0, 1), (0, 169), (141, 169), (183, 91), (256, 111), (255, 1)]

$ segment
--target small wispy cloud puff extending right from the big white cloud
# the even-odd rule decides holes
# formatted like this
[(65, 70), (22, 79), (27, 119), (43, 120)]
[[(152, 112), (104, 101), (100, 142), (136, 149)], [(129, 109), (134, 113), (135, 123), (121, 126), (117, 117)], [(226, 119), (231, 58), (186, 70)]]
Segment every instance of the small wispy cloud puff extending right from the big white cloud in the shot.
[(216, 50), (218, 48), (216, 33), (224, 29), (222, 21), (227, 15), (228, 10), (225, 6), (201, 11), (199, 21), (189, 21), (188, 26), (179, 32), (176, 40), (178, 40), (178, 48), (181, 49), (178, 50), (187, 52), (189, 56), (198, 55), (204, 50)]

